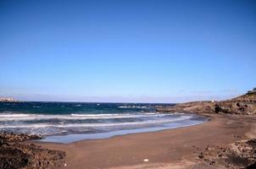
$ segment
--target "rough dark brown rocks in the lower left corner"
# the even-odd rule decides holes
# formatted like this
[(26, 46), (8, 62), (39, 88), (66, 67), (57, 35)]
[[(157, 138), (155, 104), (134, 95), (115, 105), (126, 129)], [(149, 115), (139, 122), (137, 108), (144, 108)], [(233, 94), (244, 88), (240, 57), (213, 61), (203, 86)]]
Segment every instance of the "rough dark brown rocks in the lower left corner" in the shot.
[(25, 143), (34, 139), (41, 138), (37, 135), (0, 133), (0, 168), (52, 169), (64, 166), (64, 151)]

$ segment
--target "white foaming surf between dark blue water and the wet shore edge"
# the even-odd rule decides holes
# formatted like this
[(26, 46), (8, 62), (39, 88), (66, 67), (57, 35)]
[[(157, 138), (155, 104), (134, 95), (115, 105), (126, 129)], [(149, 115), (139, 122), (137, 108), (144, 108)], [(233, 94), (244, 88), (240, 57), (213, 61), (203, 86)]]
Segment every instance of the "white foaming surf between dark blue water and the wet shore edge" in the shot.
[(175, 113), (159, 114), (157, 112), (114, 114), (73, 113), (64, 115), (0, 113), (0, 131), (40, 134), (42, 136), (97, 134), (137, 128), (168, 128), (168, 126), (179, 126), (198, 122), (202, 122), (202, 119), (197, 119), (195, 115)]

